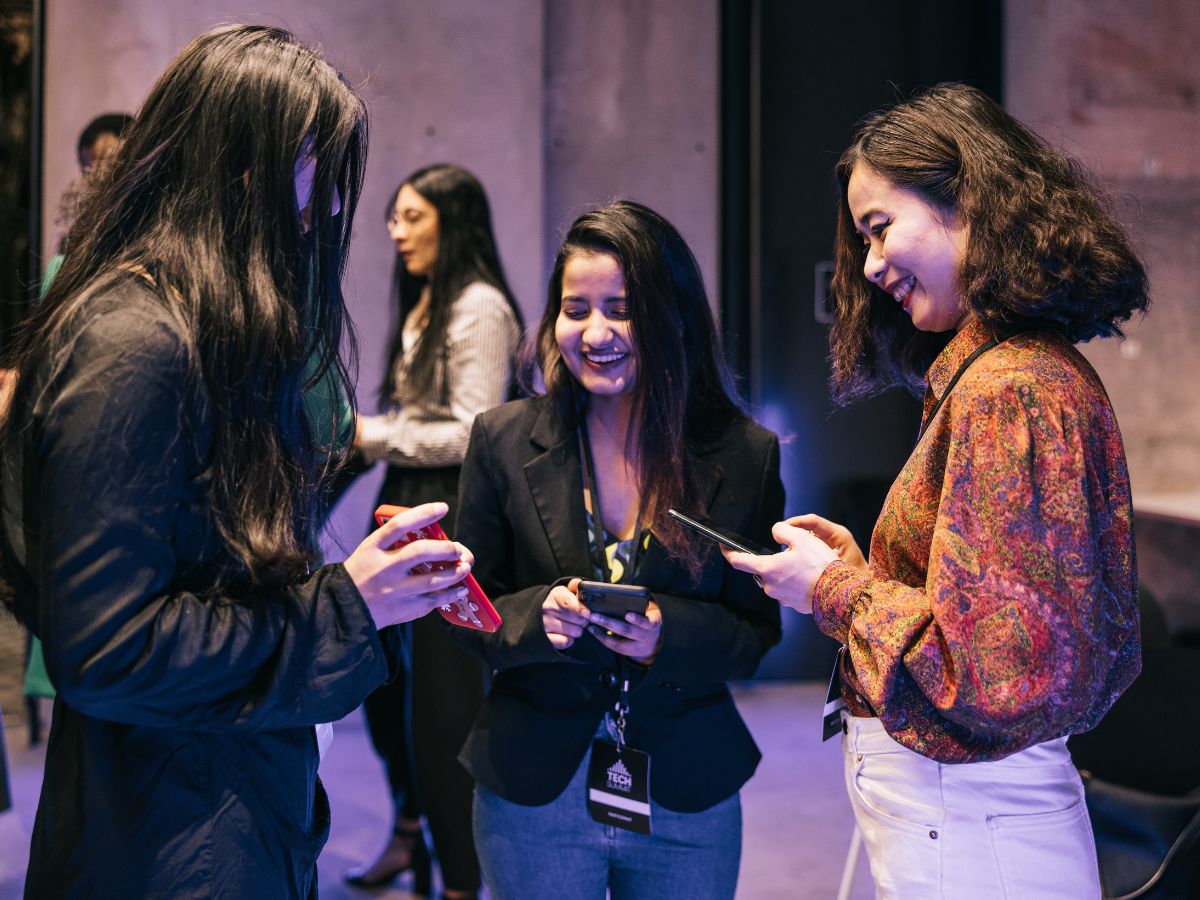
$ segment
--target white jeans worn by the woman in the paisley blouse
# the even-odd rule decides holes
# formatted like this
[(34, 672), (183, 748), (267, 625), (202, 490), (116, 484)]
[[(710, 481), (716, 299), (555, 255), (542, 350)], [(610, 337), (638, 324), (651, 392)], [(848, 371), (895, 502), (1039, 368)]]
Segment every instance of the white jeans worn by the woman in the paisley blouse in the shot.
[[(844, 714), (845, 715), (845, 714)], [(948, 766), (845, 716), (846, 791), (876, 895), (1094, 900), (1096, 841), (1067, 739)]]

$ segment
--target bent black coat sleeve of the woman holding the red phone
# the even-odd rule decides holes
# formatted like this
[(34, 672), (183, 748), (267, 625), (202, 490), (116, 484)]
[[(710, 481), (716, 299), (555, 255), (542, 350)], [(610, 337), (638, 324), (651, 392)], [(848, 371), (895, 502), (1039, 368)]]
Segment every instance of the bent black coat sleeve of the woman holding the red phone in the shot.
[(344, 568), (236, 599), (178, 587), (178, 553), (204, 514), (203, 400), (178, 332), (145, 307), (96, 317), (31, 401), (28, 569), (49, 673), (71, 707), (113, 721), (253, 731), (337, 719), (388, 668)]

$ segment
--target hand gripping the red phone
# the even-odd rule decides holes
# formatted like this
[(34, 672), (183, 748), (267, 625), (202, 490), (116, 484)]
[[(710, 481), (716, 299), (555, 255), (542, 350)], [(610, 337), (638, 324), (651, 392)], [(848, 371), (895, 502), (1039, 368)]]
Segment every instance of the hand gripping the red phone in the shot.
[[(362, 594), (376, 628), (419, 619), (467, 596), (460, 582), (475, 560), (464, 546), (426, 539), (395, 546), (409, 532), (437, 522), (449, 509), (444, 503), (425, 503), (404, 510), (368, 534), (347, 558), (346, 571)], [(425, 569), (422, 563), (456, 565), (414, 572), (414, 568)]]

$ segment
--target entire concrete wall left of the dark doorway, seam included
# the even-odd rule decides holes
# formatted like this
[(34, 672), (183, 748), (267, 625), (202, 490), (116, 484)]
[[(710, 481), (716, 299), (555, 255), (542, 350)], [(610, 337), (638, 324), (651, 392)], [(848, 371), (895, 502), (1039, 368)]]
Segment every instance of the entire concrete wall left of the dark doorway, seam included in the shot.
[[(228, 22), (280, 24), (320, 44), (368, 102), (371, 152), (347, 283), (362, 408), (374, 409), (390, 328), (384, 206), (419, 166), (457, 162), (479, 175), (529, 322), (565, 227), (614, 197), (674, 221), (716, 283), (715, 0), (53, 0), (43, 246), (77, 174), (83, 126), (101, 112), (134, 110), (187, 41)], [(340, 505), (331, 557), (365, 530), (379, 475), (360, 479)]]

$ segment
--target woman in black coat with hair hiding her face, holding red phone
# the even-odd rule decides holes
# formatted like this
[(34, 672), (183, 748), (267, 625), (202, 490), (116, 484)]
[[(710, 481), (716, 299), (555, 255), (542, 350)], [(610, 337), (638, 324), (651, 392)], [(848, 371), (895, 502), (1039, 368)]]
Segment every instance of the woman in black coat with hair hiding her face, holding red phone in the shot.
[[(348, 391), (365, 154), (365, 108), (313, 50), (274, 28), (202, 35), (20, 335), (4, 562), (59, 691), (28, 896), (311, 896), (329, 828), (313, 726), (385, 679), (378, 629), (462, 592), (461, 547), (390, 550), (444, 504), (317, 566), (338, 413), (311, 395)], [(458, 564), (412, 574), (431, 560)]]

